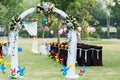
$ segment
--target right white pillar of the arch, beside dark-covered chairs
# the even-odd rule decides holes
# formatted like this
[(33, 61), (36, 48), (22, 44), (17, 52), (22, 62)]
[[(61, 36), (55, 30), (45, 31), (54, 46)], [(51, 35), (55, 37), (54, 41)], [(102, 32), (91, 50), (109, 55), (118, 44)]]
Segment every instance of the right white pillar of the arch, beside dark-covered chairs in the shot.
[(66, 78), (78, 78), (79, 76), (75, 71), (75, 62), (76, 62), (76, 50), (77, 50), (77, 36), (76, 31), (69, 30), (68, 33), (68, 57), (67, 57), (67, 67), (72, 64), (72, 68), (69, 68)]

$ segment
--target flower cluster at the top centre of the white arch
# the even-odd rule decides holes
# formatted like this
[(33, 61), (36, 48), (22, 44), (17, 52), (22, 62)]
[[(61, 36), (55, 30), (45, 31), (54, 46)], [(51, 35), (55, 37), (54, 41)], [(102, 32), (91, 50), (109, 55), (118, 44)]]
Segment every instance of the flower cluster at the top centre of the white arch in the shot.
[(39, 2), (36, 7), (36, 12), (45, 14), (52, 14), (54, 9), (54, 4), (50, 2)]

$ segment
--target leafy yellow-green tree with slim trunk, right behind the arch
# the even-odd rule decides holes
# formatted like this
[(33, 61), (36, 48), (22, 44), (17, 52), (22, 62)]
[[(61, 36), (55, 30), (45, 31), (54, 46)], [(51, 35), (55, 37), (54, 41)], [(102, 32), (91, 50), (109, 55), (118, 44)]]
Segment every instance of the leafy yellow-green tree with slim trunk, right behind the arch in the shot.
[[(68, 6), (67, 12), (77, 18), (82, 27), (82, 38), (85, 39), (87, 36), (87, 27), (89, 21), (96, 20), (92, 16), (93, 8), (97, 5), (97, 0), (75, 0)], [(72, 10), (71, 10), (72, 9)]]

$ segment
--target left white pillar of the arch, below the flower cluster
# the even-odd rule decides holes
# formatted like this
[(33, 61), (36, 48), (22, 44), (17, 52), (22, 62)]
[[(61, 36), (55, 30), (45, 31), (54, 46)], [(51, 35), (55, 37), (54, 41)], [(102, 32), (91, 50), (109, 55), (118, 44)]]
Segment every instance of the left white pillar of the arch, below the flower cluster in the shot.
[(16, 32), (16, 31), (10, 32), (10, 54), (11, 54), (11, 69), (15, 68), (16, 74), (17, 74), (17, 70), (18, 70), (18, 32)]

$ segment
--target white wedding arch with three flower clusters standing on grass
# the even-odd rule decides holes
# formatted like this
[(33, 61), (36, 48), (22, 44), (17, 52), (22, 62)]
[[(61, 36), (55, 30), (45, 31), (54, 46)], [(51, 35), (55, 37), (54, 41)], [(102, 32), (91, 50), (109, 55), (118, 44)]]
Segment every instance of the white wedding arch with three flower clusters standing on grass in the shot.
[(17, 74), (18, 70), (18, 32), (22, 28), (21, 22), (22, 19), (30, 13), (44, 13), (51, 14), (53, 12), (61, 15), (66, 19), (68, 32), (68, 59), (67, 66), (72, 65), (72, 68), (69, 69), (66, 78), (78, 78), (75, 72), (75, 61), (76, 61), (76, 47), (77, 47), (77, 36), (76, 36), (76, 28), (78, 24), (76, 19), (68, 16), (64, 11), (56, 8), (54, 4), (50, 2), (40, 2), (37, 4), (37, 7), (32, 7), (27, 9), (23, 13), (21, 13), (17, 18), (12, 18), (12, 24), (10, 27), (10, 53), (11, 53), (11, 69), (16, 69), (16, 76), (10, 75), (12, 78), (19, 78), (20, 75)]

